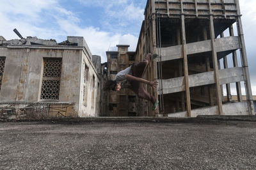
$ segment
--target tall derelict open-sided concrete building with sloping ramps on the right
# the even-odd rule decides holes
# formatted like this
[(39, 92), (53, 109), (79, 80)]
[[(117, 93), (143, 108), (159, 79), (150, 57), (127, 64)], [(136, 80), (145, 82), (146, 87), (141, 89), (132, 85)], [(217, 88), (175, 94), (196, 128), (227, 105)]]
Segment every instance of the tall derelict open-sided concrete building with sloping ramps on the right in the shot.
[(255, 114), (238, 0), (148, 0), (144, 14), (136, 62), (148, 52), (159, 56), (145, 78), (159, 81), (160, 116)]

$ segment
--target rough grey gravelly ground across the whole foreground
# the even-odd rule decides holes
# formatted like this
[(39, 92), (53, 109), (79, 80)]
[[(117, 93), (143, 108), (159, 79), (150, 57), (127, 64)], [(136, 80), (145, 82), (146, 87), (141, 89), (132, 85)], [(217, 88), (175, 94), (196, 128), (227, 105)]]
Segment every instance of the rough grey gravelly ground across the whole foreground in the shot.
[(0, 123), (0, 169), (255, 168), (255, 121)]

